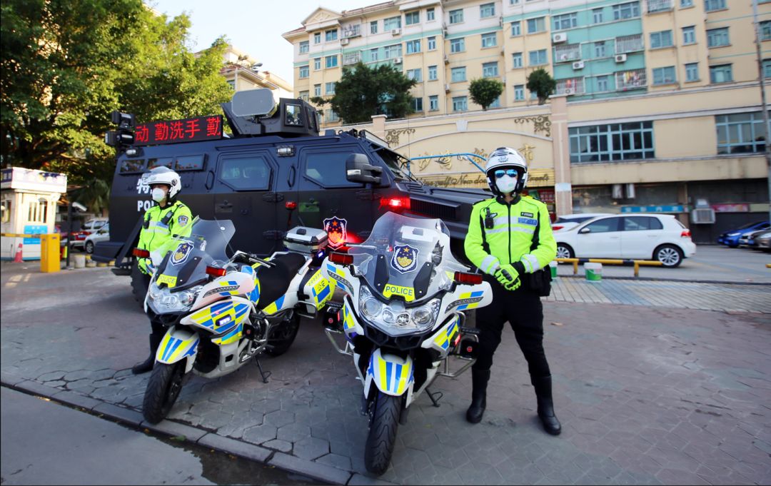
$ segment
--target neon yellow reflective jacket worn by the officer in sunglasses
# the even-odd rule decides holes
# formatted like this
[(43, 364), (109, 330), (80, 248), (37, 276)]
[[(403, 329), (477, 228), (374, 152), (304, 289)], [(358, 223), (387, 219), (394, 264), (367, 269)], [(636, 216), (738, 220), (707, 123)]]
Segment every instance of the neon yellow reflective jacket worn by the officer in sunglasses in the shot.
[[(531, 250), (536, 237), (537, 246)], [(517, 196), (506, 203), (498, 196), (473, 206), (464, 249), (468, 259), (485, 273), (493, 274), (498, 266), (517, 262), (522, 266), (515, 268), (533, 273), (554, 260), (557, 242), (544, 203), (530, 196)]]

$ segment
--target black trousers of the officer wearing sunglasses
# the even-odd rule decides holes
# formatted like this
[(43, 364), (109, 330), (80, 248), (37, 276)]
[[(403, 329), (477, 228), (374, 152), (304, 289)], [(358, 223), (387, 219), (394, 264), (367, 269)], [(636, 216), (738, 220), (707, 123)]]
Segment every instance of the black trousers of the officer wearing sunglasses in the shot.
[(522, 287), (513, 292), (506, 290), (487, 275), (485, 280), (493, 287), (493, 303), (476, 311), (476, 328), (481, 332), (479, 354), (473, 369), (489, 370), (493, 366), (493, 354), (500, 344), (503, 324), (508, 321), (527, 360), (530, 376), (549, 376), (549, 364), (544, 354), (544, 307), (540, 297)]

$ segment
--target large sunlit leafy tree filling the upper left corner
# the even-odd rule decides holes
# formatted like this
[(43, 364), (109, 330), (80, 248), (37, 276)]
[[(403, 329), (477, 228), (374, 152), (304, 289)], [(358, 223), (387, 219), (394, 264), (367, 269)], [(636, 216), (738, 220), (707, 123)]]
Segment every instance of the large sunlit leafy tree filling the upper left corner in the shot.
[(186, 15), (168, 20), (141, 0), (3, 0), (3, 165), (109, 180), (113, 110), (140, 122), (221, 112), (226, 44), (196, 56), (188, 28)]

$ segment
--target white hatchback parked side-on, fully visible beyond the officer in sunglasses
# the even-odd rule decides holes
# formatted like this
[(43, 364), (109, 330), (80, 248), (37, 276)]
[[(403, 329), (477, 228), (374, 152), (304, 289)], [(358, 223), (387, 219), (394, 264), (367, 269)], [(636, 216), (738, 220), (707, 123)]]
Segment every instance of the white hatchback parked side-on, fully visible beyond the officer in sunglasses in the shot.
[(668, 214), (601, 216), (554, 233), (557, 258), (658, 260), (675, 267), (696, 254), (691, 230)]

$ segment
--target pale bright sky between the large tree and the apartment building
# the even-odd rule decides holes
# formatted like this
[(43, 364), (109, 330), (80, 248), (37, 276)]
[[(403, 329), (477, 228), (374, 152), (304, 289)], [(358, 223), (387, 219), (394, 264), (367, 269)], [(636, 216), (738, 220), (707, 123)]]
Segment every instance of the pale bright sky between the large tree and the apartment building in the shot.
[(308, 15), (323, 6), (342, 12), (379, 3), (378, 0), (148, 0), (147, 5), (173, 18), (190, 17), (190, 49), (206, 49), (224, 35), (236, 48), (262, 62), (261, 70), (274, 72), (292, 82), (292, 46), (281, 34), (301, 27)]

